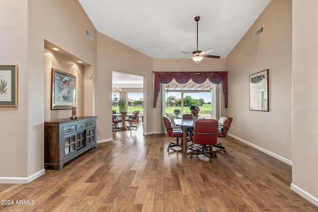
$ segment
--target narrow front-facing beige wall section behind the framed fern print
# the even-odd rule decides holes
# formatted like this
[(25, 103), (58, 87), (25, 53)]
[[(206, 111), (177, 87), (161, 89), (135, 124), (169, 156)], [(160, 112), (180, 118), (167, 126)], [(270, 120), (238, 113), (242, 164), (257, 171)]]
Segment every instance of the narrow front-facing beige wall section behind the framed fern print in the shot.
[(0, 64), (18, 65), (18, 107), (0, 107), (0, 177), (26, 177), (21, 161), (27, 161), (29, 131), (27, 2), (1, 1), (0, 27)]

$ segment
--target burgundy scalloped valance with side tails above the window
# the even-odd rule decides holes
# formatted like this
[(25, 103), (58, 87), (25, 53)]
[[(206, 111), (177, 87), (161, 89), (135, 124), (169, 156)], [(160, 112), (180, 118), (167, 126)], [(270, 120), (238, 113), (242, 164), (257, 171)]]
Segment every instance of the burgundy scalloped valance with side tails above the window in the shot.
[(160, 90), (160, 83), (168, 84), (172, 80), (179, 84), (186, 84), (191, 79), (194, 83), (202, 84), (207, 79), (213, 84), (223, 85), (225, 107), (228, 108), (228, 72), (155, 72), (154, 107)]

